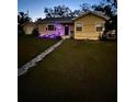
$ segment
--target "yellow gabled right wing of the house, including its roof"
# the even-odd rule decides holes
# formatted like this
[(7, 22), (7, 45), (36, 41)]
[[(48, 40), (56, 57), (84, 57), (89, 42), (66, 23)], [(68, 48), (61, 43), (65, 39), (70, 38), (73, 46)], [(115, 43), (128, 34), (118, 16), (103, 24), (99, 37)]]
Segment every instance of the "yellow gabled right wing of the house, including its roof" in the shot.
[(104, 32), (104, 23), (109, 18), (89, 12), (75, 18), (75, 38), (76, 39), (99, 39)]

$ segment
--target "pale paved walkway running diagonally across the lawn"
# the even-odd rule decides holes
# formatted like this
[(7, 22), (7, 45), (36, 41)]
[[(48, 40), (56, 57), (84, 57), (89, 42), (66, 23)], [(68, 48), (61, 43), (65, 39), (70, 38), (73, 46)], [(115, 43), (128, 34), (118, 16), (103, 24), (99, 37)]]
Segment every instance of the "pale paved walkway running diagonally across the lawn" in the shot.
[(21, 68), (19, 68), (18, 69), (18, 77), (24, 75), (25, 72), (27, 72), (27, 70), (30, 68), (36, 66), (38, 61), (43, 60), (43, 58), (45, 56), (47, 56), (55, 48), (57, 48), (64, 41), (65, 41), (65, 38), (61, 39), (61, 41), (59, 41), (58, 43), (54, 44), (52, 47), (49, 47), (48, 49), (46, 49), (45, 52), (43, 52), (42, 54), (39, 54), (37, 57), (35, 57), (34, 59), (32, 59), (31, 61), (26, 63), (24, 66), (22, 66)]

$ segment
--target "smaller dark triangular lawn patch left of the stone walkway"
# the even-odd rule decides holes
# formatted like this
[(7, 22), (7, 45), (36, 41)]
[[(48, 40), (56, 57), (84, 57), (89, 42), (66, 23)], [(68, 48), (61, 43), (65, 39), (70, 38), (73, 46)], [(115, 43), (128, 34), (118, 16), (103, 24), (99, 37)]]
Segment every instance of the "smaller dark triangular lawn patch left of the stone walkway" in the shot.
[(50, 47), (57, 41), (41, 39), (35, 36), (18, 37), (18, 67), (29, 63), (32, 58)]

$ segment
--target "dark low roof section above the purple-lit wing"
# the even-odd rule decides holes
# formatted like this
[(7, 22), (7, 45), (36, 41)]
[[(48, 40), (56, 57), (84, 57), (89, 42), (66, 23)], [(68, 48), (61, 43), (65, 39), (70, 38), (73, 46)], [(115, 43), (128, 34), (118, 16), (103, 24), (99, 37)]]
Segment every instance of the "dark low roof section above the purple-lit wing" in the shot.
[(72, 23), (72, 19), (71, 16), (67, 16), (67, 18), (45, 18), (42, 19), (39, 21), (37, 21), (36, 23)]

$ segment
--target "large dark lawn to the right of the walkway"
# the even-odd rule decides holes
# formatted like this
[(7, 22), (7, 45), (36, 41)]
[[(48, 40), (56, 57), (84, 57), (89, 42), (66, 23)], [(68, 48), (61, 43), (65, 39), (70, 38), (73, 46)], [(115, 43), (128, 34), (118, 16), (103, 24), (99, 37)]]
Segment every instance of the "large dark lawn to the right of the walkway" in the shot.
[(116, 42), (65, 41), (19, 78), (19, 102), (117, 102)]

